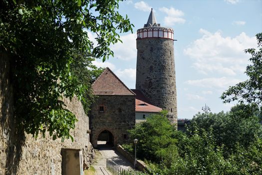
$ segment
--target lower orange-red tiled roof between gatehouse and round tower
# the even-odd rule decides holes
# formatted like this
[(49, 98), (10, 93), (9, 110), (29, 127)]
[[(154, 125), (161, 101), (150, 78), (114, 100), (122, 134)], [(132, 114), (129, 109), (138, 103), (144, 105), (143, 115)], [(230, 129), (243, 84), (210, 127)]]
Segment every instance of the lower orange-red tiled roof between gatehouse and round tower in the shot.
[(145, 95), (138, 89), (131, 89), (136, 93), (136, 112), (160, 112), (160, 107), (150, 104)]

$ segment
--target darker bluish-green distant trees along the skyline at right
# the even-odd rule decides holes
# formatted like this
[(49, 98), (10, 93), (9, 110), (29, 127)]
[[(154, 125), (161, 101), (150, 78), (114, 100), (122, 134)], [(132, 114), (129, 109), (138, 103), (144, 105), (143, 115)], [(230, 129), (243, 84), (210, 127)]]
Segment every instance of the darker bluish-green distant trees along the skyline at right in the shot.
[(230, 112), (206, 114), (198, 113), (188, 126), (189, 134), (199, 133), (200, 129), (214, 134), (216, 145), (223, 146), (228, 156), (241, 145), (248, 147), (259, 136), (262, 138), (262, 125), (258, 122), (257, 110), (253, 105), (238, 104)]

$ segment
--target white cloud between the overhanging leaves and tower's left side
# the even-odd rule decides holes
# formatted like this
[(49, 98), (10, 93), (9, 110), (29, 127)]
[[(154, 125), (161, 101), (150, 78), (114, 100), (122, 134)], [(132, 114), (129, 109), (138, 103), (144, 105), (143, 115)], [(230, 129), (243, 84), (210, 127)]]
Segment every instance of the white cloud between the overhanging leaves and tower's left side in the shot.
[(130, 33), (123, 35), (120, 36), (120, 39), (123, 43), (117, 42), (116, 44), (110, 46), (110, 48), (114, 51), (114, 57), (123, 60), (136, 59), (136, 34)]

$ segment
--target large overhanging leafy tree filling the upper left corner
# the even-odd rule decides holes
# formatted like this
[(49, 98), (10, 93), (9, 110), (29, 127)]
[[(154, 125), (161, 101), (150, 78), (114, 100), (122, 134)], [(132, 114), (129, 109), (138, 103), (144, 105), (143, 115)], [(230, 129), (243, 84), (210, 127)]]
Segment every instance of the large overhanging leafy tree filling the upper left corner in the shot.
[[(82, 99), (84, 87), (70, 65), (75, 54), (113, 55), (109, 45), (132, 30), (116, 9), (121, 0), (1, 0), (0, 52), (10, 57), (15, 120), (27, 133), (72, 136), (75, 115), (62, 97)], [(87, 35), (97, 34), (97, 46)]]

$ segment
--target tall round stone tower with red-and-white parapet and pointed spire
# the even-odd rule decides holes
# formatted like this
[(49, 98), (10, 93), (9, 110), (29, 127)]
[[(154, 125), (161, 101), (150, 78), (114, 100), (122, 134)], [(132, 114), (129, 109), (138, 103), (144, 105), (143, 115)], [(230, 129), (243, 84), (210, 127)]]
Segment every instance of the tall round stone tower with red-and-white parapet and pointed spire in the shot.
[(160, 26), (151, 9), (136, 40), (136, 89), (153, 105), (168, 110), (167, 117), (177, 123), (174, 30)]

